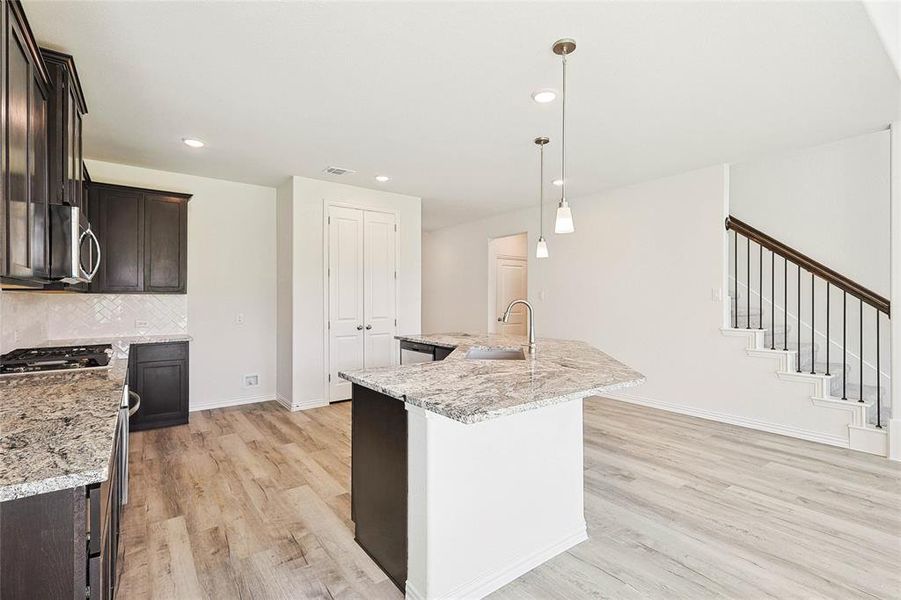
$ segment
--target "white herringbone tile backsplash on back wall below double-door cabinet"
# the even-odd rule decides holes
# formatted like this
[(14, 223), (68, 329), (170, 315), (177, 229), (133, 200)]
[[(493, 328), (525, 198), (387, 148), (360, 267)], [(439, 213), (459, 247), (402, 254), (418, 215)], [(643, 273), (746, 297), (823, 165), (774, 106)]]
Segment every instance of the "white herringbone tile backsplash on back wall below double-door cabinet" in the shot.
[(187, 299), (183, 294), (48, 296), (50, 338), (187, 333)]

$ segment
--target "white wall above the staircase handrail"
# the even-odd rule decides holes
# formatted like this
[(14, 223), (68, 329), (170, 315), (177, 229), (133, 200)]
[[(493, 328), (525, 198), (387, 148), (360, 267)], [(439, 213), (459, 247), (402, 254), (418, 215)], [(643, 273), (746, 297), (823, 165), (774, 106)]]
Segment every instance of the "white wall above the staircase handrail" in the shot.
[(890, 294), (890, 139), (879, 131), (732, 166), (732, 214)]

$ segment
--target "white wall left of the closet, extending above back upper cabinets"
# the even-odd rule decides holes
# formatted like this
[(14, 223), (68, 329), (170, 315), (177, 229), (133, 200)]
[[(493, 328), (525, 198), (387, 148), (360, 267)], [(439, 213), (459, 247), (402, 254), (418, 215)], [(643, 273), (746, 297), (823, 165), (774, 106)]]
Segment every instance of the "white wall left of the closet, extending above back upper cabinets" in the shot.
[[(191, 409), (276, 393), (274, 188), (94, 160), (95, 181), (193, 194), (188, 203)], [(244, 315), (238, 324), (236, 316)], [(245, 388), (243, 375), (260, 385)]]

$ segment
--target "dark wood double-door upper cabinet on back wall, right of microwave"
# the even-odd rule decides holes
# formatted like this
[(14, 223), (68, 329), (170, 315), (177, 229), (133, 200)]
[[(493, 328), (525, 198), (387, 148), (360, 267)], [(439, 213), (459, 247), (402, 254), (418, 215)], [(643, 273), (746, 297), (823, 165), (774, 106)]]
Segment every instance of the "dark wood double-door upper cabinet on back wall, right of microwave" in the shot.
[(184, 294), (189, 194), (105, 183), (88, 186), (102, 258), (95, 293)]

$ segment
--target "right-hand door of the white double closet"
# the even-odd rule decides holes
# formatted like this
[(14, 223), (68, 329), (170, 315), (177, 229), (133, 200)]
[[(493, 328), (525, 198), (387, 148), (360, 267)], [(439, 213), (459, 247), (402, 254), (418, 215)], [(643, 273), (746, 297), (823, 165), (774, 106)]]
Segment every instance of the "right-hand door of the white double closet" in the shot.
[(366, 211), (363, 304), (366, 315), (366, 368), (394, 364), (395, 359), (395, 230), (394, 215)]

